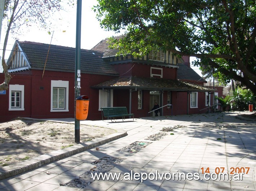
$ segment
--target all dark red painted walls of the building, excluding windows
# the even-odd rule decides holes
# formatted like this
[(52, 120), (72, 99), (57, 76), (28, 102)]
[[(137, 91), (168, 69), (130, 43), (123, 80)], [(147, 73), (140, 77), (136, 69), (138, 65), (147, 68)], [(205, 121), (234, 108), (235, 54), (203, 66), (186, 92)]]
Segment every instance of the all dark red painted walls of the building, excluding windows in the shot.
[[(116, 65), (115, 68), (120, 74), (127, 72), (133, 64)], [(74, 118), (74, 73), (45, 71), (42, 79), (41, 70), (30, 70), (22, 73), (12, 74), (10, 84), (25, 85), (25, 111), (8, 111), (9, 107), (9, 90), (6, 95), (0, 95), (0, 122), (8, 121), (15, 117), (31, 117), (31, 118)], [(150, 65), (135, 64), (132, 70), (128, 71), (125, 75), (136, 75), (143, 77), (150, 77)], [(175, 79), (176, 69), (163, 68), (163, 76), (166, 79)], [(95, 74), (81, 74), (81, 95), (87, 95), (90, 99), (89, 112), (87, 120), (101, 120), (101, 111), (99, 108), (99, 90), (93, 89), (91, 86), (99, 84), (103, 81), (116, 78), (116, 76), (105, 76)], [(0, 74), (0, 80), (4, 81), (4, 74)], [(64, 80), (69, 81), (69, 112), (50, 112), (50, 91), (51, 80)], [(201, 83), (201, 85), (203, 85)], [(43, 89), (40, 89), (43, 87)], [(216, 87), (219, 92), (219, 97), (222, 95), (222, 87)], [(142, 93), (142, 109), (138, 109), (138, 91), (132, 92), (132, 113), (134, 117), (147, 117), (151, 111), (149, 108), (150, 92), (143, 90)], [(114, 90), (113, 91), (113, 106), (114, 107), (127, 107), (129, 111), (129, 90)], [(212, 100), (212, 96), (211, 96)], [(167, 91), (163, 94), (162, 105), (167, 104)], [(187, 113), (187, 92), (172, 92), (173, 115), (182, 115)], [(189, 114), (199, 113), (199, 110), (205, 108), (205, 93), (198, 92), (198, 108), (190, 108), (190, 95), (189, 95)], [(207, 110), (204, 110), (206, 112)], [(171, 115), (171, 109), (163, 108), (162, 115)]]

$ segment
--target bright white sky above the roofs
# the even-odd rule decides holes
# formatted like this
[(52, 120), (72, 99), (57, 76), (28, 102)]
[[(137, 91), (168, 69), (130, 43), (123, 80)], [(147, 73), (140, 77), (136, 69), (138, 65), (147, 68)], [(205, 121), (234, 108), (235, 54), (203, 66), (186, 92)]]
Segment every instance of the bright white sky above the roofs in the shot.
[[(101, 40), (111, 37), (121, 35), (120, 33), (115, 33), (112, 31), (105, 31), (100, 27), (99, 21), (96, 19), (96, 13), (92, 10), (93, 5), (97, 5), (97, 0), (83, 0), (82, 1), (82, 15), (81, 15), (81, 48), (91, 49)], [(52, 20), (54, 27), (51, 34), (48, 31), (42, 30), (38, 27), (31, 27), (29, 31), (23, 29), (23, 32), (19, 36), (9, 35), (8, 46), (6, 48), (5, 59), (8, 59), (9, 54), (14, 45), (15, 39), (19, 41), (32, 41), (41, 42), (52, 45), (76, 46), (76, 5), (74, 8), (70, 6), (66, 7), (65, 11), (60, 11), (56, 13), (56, 18), (61, 17), (62, 19)], [(26, 30), (26, 31), (25, 31)], [(63, 32), (65, 31), (65, 32)], [(5, 31), (1, 32), (1, 42), (0, 46), (3, 47)], [(1, 53), (2, 55), (2, 53)], [(192, 58), (193, 59), (193, 58)], [(191, 59), (191, 60), (192, 60)], [(1, 66), (1, 65), (0, 65)], [(191, 67), (199, 74), (200, 70), (198, 67)], [(2, 69), (0, 68), (0, 72)], [(201, 75), (202, 76), (202, 75)]]

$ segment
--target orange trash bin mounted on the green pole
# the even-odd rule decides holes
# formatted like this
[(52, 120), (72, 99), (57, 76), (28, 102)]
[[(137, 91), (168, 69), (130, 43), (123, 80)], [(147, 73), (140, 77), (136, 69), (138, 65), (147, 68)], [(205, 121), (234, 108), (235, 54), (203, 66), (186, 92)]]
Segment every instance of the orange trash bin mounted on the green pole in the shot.
[(82, 95), (76, 98), (76, 119), (86, 120), (89, 110), (89, 97)]

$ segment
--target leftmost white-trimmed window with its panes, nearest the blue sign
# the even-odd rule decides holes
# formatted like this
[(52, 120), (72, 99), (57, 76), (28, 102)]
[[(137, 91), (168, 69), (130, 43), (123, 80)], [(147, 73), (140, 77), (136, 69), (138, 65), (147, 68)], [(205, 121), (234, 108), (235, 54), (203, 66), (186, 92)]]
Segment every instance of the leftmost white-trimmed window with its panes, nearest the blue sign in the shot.
[(24, 111), (24, 85), (9, 85), (9, 111)]

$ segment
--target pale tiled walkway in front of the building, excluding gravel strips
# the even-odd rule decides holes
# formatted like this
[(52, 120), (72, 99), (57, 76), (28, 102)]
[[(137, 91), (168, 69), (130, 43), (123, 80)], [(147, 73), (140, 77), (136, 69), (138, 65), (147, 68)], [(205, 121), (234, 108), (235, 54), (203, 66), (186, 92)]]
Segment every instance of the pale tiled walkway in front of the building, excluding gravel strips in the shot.
[[(121, 173), (120, 179), (94, 181), (82, 190), (254, 191), (256, 190), (255, 122), (236, 119), (236, 115), (238, 112), (146, 117), (134, 121), (127, 119), (125, 122), (116, 120), (112, 123), (110, 120), (81, 121), (81, 124), (124, 130), (128, 135), (98, 146), (100, 150), (96, 150), (95, 147), (87, 149), (25, 173), (5, 178), (0, 181), (0, 190), (81, 190), (60, 184), (65, 184), (91, 169), (93, 161), (108, 156), (124, 158), (122, 163), (110, 171)], [(167, 132), (168, 135), (156, 141), (145, 140), (163, 127), (176, 125), (186, 127), (175, 129), (172, 131), (173, 135)], [(218, 138), (221, 140), (217, 140)], [(117, 152), (135, 141), (152, 143), (137, 153)], [(202, 171), (209, 171), (212, 174), (222, 169), (224, 173), (228, 173), (228, 180), (204, 180), (206, 173), (203, 174)], [(235, 180), (237, 177), (232, 174), (235, 171), (245, 171), (242, 180)], [(127, 173), (133, 175), (147, 173), (152, 180), (149, 178), (144, 181), (135, 180), (136, 178), (125, 180)], [(171, 180), (168, 180), (169, 175)], [(177, 176), (179, 178), (180, 175), (181, 180), (177, 180)], [(214, 175), (212, 174), (213, 179), (216, 177)], [(160, 178), (161, 176), (163, 178)], [(241, 173), (239, 176), (241, 178)]]

